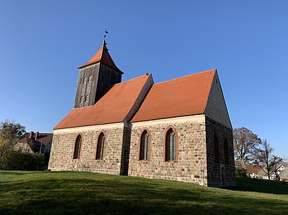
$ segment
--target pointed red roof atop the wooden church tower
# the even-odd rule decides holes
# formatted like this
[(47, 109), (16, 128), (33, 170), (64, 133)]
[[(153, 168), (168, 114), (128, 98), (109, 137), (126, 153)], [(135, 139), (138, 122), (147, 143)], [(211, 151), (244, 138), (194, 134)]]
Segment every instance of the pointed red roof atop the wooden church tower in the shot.
[(98, 49), (98, 52), (89, 60), (89, 62), (86, 62), (86, 64), (82, 65), (78, 69), (82, 69), (84, 67), (87, 67), (91, 64), (95, 64), (97, 62), (101, 62), (105, 64), (107, 67), (111, 67), (115, 71), (118, 71), (119, 73), (123, 74), (123, 72), (120, 69), (118, 69), (116, 64), (114, 64), (112, 57), (108, 53), (108, 49), (106, 47), (105, 41), (103, 41), (103, 43), (101, 44), (101, 47)]

